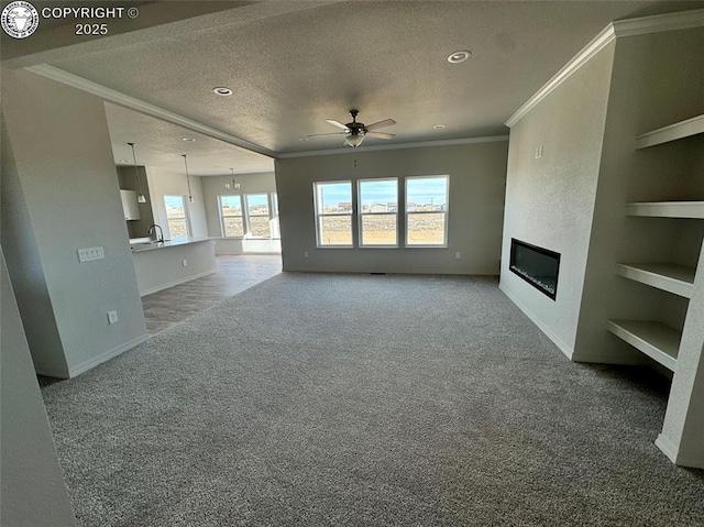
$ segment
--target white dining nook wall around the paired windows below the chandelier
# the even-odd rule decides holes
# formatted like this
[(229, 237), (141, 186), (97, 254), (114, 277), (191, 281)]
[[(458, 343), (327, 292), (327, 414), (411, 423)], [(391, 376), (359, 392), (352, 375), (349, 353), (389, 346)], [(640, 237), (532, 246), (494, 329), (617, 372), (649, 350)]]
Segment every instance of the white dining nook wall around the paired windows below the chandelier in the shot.
[[(226, 184), (231, 184), (233, 176), (210, 176), (202, 177), (202, 193), (206, 208), (206, 219), (208, 222), (208, 235), (212, 238), (222, 237), (220, 223), (220, 212), (218, 210), (218, 196), (235, 194), (226, 188)], [(240, 184), (237, 194), (271, 194), (276, 191), (276, 179), (274, 173), (261, 174), (237, 174), (235, 183)], [(280, 240), (255, 240), (221, 238), (216, 240), (216, 254), (279, 254), (282, 252)]]

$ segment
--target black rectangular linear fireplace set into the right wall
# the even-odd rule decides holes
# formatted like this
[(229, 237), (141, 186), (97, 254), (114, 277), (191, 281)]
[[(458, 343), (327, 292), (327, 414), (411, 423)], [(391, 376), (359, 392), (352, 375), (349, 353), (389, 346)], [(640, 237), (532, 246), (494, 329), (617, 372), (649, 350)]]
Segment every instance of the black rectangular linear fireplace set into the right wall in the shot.
[(543, 295), (556, 299), (560, 253), (512, 238), (508, 268)]

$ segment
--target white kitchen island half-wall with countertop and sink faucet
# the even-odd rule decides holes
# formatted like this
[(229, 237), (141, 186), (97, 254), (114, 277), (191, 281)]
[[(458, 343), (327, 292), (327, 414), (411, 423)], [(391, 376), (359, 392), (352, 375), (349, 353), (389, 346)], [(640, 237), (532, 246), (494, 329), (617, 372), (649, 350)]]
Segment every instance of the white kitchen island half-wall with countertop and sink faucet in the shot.
[(130, 246), (140, 296), (217, 271), (215, 242), (209, 238), (164, 242), (138, 239), (130, 240)]

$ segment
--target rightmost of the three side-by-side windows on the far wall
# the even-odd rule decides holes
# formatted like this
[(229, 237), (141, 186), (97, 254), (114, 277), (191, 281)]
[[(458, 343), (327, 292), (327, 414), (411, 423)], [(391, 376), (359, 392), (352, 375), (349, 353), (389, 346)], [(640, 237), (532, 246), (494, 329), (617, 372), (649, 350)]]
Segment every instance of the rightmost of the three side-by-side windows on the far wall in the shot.
[(406, 246), (448, 245), (448, 176), (406, 178)]

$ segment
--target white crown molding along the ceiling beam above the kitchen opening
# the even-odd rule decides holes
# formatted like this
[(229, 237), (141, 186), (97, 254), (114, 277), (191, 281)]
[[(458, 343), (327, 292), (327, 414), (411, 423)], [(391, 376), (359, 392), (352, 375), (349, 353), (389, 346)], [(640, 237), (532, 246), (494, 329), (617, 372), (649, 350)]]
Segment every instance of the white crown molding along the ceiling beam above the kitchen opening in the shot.
[(134, 111), (139, 111), (140, 113), (144, 113), (146, 116), (151, 116), (156, 119), (161, 119), (162, 121), (177, 124), (193, 132), (198, 132), (204, 135), (208, 135), (209, 138), (224, 141), (226, 143), (230, 143), (234, 146), (239, 146), (250, 152), (255, 152), (257, 154), (262, 154), (273, 158), (276, 158), (277, 156), (275, 152), (268, 149), (265, 149), (263, 146), (260, 146), (258, 144), (250, 143), (249, 141), (240, 139), (235, 135), (231, 135), (229, 133), (222, 132), (212, 127), (208, 127), (207, 124), (202, 124), (198, 121), (194, 121), (193, 119), (188, 119), (187, 117), (180, 116), (173, 111), (165, 110), (163, 108), (151, 105), (148, 102), (144, 102), (143, 100), (136, 99), (134, 97), (130, 97), (120, 91), (99, 85), (84, 77), (79, 77), (77, 75), (70, 74), (55, 66), (50, 66), (48, 64), (41, 64), (38, 66), (30, 66), (25, 69), (33, 74), (41, 75), (42, 77), (46, 77), (48, 79), (56, 80), (57, 83), (65, 84), (73, 88), (87, 91), (88, 94), (95, 95), (97, 97), (100, 97), (103, 100), (113, 102), (121, 107), (129, 108)]

